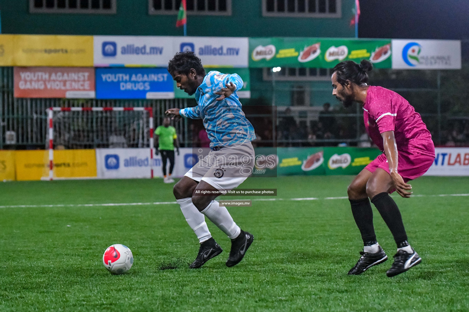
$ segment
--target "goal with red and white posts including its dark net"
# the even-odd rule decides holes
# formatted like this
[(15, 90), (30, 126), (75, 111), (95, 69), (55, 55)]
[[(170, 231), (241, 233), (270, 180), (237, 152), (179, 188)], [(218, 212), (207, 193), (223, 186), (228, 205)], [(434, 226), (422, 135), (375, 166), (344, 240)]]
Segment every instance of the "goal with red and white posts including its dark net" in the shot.
[(153, 178), (153, 110), (150, 107), (51, 107), (46, 112), (49, 153), (45, 170), (48, 172), (43, 173), (41, 180), (57, 179), (54, 145), (56, 149), (148, 146)]

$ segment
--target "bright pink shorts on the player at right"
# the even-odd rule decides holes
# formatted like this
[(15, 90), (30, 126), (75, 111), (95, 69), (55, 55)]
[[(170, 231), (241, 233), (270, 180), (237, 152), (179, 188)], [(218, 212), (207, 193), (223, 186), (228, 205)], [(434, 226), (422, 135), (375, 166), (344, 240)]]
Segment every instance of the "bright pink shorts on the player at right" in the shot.
[[(433, 156), (414, 152), (398, 152), (397, 172), (401, 174), (402, 179), (407, 183), (427, 172), (433, 160), (435, 160)], [(384, 153), (365, 167), (371, 173), (374, 173), (377, 168), (381, 168), (389, 173), (389, 164)]]

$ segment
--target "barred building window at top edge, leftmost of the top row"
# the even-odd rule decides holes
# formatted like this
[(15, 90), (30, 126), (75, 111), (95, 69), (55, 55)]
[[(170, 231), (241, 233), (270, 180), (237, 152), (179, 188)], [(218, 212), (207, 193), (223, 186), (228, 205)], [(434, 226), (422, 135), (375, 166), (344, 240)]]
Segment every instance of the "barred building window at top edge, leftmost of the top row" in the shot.
[(30, 13), (115, 14), (116, 0), (30, 0)]

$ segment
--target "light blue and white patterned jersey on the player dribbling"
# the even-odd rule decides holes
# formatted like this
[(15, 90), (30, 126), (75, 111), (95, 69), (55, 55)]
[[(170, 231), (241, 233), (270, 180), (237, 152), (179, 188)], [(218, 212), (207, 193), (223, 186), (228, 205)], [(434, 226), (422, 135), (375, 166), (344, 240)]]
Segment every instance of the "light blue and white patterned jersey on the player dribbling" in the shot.
[[(236, 90), (229, 97), (217, 101), (215, 94), (227, 83), (233, 82)], [(243, 82), (238, 74), (222, 74), (211, 71), (197, 88), (195, 97), (197, 106), (181, 109), (179, 114), (192, 119), (202, 119), (210, 147), (240, 145), (256, 139), (254, 127), (244, 116), (241, 102), (236, 91), (242, 88)]]

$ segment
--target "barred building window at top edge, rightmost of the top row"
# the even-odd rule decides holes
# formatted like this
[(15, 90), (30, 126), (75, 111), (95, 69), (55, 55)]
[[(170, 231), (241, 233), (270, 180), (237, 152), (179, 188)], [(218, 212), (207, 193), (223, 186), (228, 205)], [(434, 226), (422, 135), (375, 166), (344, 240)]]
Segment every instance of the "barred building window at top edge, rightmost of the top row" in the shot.
[(262, 0), (262, 16), (340, 18), (341, 0)]

